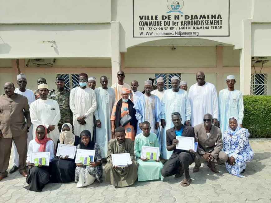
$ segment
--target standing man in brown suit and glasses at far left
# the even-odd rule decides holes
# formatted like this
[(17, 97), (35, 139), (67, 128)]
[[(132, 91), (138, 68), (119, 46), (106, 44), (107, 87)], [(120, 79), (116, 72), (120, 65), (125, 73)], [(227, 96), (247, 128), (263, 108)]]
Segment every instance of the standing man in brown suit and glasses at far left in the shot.
[(4, 90), (0, 95), (0, 181), (7, 177), (12, 140), (19, 154), (19, 172), (27, 176), (27, 129), (31, 126), (27, 98), (14, 93), (12, 82), (5, 83)]

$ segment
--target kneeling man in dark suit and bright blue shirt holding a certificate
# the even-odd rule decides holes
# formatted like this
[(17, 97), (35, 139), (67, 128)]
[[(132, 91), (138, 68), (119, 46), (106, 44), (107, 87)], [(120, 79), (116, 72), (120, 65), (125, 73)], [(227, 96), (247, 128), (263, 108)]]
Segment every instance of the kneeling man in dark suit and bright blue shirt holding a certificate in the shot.
[(180, 113), (174, 112), (171, 115), (172, 122), (174, 124), (173, 128), (166, 131), (167, 136), (167, 150), (173, 153), (169, 160), (164, 164), (162, 169), (162, 176), (169, 177), (175, 174), (176, 177), (181, 177), (184, 173), (184, 179), (181, 186), (189, 186), (191, 184), (191, 178), (189, 175), (189, 165), (194, 162), (195, 154), (194, 150), (178, 150), (176, 145), (178, 144), (178, 139), (176, 136), (194, 137), (194, 128), (190, 126), (184, 126), (182, 124), (182, 118)]

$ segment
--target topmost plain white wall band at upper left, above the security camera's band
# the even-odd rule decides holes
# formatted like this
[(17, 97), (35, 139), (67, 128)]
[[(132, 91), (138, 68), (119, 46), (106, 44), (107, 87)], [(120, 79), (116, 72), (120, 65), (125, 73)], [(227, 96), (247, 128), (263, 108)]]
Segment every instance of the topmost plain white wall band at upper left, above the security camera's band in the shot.
[(0, 0), (0, 5), (0, 24), (111, 21), (111, 0)]

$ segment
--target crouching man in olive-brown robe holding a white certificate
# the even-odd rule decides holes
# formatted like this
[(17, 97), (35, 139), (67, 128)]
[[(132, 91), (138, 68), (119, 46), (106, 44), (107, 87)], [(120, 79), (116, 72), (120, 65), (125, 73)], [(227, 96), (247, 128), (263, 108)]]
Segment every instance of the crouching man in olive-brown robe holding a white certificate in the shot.
[[(125, 138), (124, 127), (116, 128), (116, 139), (108, 142), (107, 164), (105, 165), (106, 182), (117, 187), (126, 187), (137, 179), (138, 163), (135, 161), (134, 145), (130, 138)], [(113, 166), (112, 154), (130, 153), (132, 164), (124, 167)]]

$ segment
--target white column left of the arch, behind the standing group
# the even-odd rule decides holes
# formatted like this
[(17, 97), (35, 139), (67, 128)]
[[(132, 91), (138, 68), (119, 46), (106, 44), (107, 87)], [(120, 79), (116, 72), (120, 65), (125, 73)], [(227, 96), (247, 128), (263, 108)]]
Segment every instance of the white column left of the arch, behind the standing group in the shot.
[(118, 81), (117, 72), (121, 70), (119, 21), (111, 23), (111, 66), (112, 66), (112, 85)]

